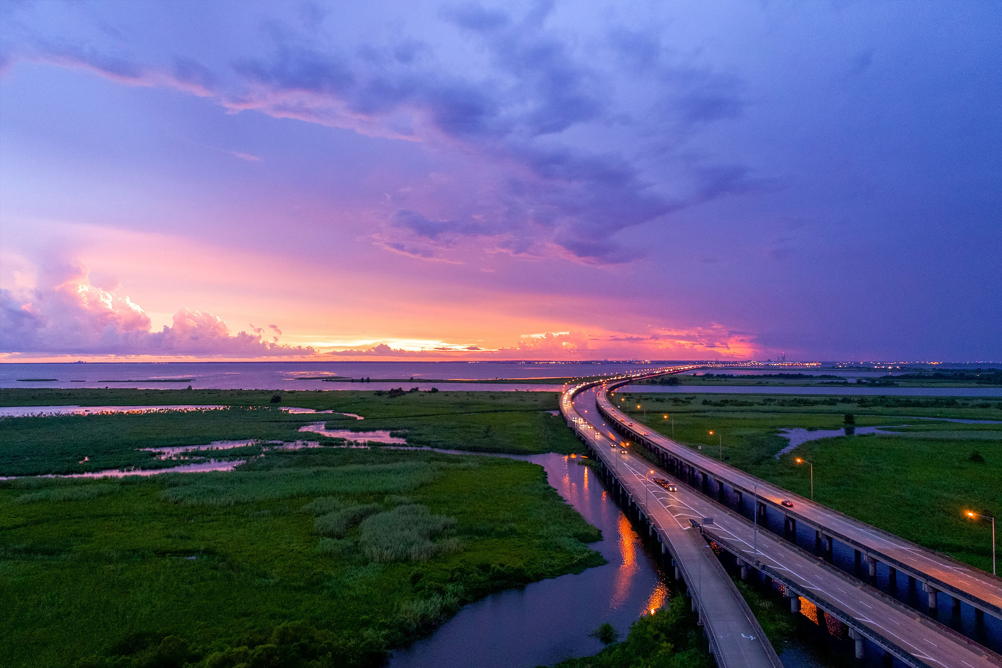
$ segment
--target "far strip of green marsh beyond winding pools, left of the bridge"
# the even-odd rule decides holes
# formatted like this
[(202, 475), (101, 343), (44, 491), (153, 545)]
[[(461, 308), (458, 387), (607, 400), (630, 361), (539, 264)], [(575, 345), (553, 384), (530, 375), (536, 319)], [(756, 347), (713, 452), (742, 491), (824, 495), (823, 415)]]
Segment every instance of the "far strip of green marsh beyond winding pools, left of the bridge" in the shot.
[[(196, 395), (192, 397), (192, 394)], [(365, 417), (289, 414), (281, 406), (334, 410)], [(556, 409), (552, 393), (407, 393), (402, 397), (372, 392), (262, 393), (184, 390), (2, 390), (8, 406), (169, 406), (217, 405), (221, 410), (102, 414), (0, 419), (0, 476), (84, 473), (124, 467), (176, 465), (156, 459), (144, 448), (206, 445), (213, 441), (324, 439), (299, 428), (327, 421), (331, 429), (391, 430), (409, 443), (438, 448), (535, 454), (571, 453), (577, 441)], [(226, 457), (256, 455), (260, 447), (226, 451)], [(209, 453), (202, 453), (208, 457)], [(215, 453), (219, 457), (220, 453)], [(191, 460), (195, 461), (195, 460)]]

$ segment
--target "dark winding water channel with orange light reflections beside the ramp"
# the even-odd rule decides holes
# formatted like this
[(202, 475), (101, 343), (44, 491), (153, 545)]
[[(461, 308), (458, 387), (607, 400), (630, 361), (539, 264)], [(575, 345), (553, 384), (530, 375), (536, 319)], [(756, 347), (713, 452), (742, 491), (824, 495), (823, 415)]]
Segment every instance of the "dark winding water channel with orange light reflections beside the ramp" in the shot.
[[(603, 647), (589, 635), (600, 624), (612, 624), (625, 637), (633, 621), (676, 593), (590, 467), (556, 454), (500, 456), (542, 466), (560, 496), (602, 531), (602, 540), (590, 547), (608, 563), (471, 603), (428, 638), (395, 651), (388, 668), (532, 668), (588, 656)], [(831, 665), (812, 647), (783, 649), (786, 668)]]

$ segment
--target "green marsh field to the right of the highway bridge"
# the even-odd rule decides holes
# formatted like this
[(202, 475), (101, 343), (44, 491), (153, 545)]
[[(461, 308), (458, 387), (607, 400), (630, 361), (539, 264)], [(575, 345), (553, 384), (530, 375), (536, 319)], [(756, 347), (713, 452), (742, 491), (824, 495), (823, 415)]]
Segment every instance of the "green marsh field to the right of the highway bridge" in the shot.
[[(722, 435), (729, 464), (809, 497), (809, 468), (795, 462), (797, 457), (806, 459), (814, 464), (817, 501), (991, 570), (990, 528), (969, 521), (963, 512), (971, 509), (996, 516), (1002, 512), (1002, 425), (906, 416), (1002, 421), (995, 402), (869, 398), (861, 406), (841, 403), (839, 398), (833, 405), (818, 397), (714, 395), (672, 405), (653, 395), (629, 393), (623, 398), (632, 407), (637, 403), (646, 407), (647, 424), (663, 434), (671, 435), (673, 420), (677, 441), (702, 445), (703, 453), (711, 457), (718, 456)], [(913, 406), (902, 406), (908, 403)], [(780, 429), (841, 429), (846, 413), (853, 413), (857, 427), (891, 427), (896, 433), (809, 441), (776, 459), (789, 445)], [(642, 421), (642, 411), (634, 409), (631, 417)], [(975, 451), (984, 462), (971, 460)]]

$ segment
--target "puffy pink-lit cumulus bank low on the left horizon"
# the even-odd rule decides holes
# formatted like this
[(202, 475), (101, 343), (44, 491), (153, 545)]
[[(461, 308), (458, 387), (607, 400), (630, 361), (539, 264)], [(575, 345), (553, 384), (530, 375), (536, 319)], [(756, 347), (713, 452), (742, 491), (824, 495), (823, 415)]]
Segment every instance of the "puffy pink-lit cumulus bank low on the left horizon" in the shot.
[[(14, 292), (0, 288), (0, 352), (31, 356), (115, 355), (263, 358), (314, 355), (312, 348), (265, 341), (262, 330), (231, 333), (209, 312), (181, 308), (170, 325), (151, 330), (128, 296), (92, 285), (83, 267), (55, 284)], [(276, 332), (276, 325), (270, 325)]]

